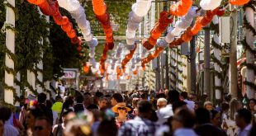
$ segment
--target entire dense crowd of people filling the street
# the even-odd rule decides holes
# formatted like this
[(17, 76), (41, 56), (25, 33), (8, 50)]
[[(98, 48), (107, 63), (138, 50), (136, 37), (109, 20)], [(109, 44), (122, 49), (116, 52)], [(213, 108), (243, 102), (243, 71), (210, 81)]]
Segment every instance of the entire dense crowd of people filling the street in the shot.
[(255, 136), (256, 100), (217, 106), (187, 91), (80, 91), (0, 106), (0, 136)]

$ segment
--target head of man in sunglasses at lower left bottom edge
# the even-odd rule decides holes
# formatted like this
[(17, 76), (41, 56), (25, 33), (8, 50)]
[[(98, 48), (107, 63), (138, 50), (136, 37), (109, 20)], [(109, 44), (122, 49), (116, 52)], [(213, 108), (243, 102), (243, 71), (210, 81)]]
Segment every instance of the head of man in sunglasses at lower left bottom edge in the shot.
[(50, 120), (46, 117), (36, 118), (33, 135), (35, 136), (50, 136), (51, 124)]

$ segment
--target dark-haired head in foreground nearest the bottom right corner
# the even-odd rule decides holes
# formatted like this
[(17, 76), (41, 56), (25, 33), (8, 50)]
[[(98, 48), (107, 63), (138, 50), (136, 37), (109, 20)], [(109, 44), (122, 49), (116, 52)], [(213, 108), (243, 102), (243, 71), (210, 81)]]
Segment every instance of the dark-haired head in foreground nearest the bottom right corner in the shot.
[(247, 109), (239, 109), (236, 112), (235, 115), (235, 124), (241, 128), (244, 129), (248, 124), (250, 124), (252, 120), (252, 114)]

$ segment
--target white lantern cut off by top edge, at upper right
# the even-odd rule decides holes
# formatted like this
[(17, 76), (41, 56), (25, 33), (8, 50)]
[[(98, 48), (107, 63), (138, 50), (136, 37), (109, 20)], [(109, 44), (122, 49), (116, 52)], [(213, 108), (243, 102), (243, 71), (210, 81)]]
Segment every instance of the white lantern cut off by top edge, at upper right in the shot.
[(203, 10), (214, 10), (220, 6), (222, 0), (201, 0), (200, 7)]

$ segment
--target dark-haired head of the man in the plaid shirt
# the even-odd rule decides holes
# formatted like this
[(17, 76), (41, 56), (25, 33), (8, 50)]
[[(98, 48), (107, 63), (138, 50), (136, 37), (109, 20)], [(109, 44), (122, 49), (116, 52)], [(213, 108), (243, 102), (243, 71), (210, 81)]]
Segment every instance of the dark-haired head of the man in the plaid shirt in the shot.
[(149, 119), (151, 116), (151, 112), (152, 112), (152, 105), (149, 101), (139, 101), (138, 105), (138, 115), (142, 118), (146, 118)]

